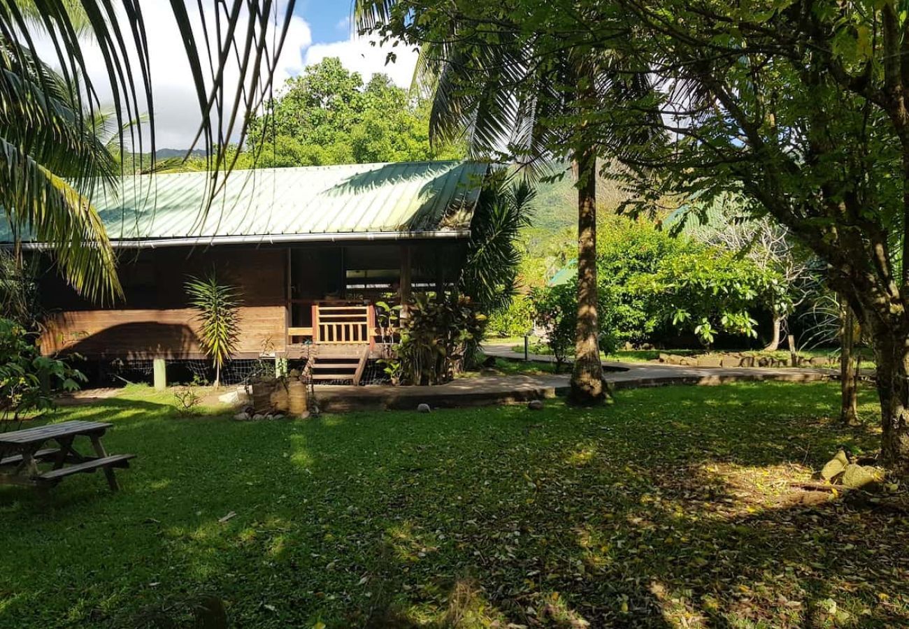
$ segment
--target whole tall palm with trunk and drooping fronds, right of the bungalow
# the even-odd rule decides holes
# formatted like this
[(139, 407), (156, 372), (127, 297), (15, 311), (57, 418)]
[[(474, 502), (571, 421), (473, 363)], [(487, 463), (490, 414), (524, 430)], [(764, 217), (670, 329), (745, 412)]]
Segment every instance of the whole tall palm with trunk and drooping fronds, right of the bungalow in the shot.
[[(424, 8), (435, 24), (426, 25)], [(474, 156), (516, 156), (531, 166), (552, 158), (572, 162), (578, 192), (578, 315), (571, 399), (596, 403), (606, 396), (596, 278), (597, 155), (604, 147), (590, 139), (588, 126), (604, 103), (639, 98), (649, 84), (645, 75), (624, 72), (621, 60), (608, 51), (554, 45), (543, 33), (528, 36), (509, 24), (503, 17), (507, 12), (494, 13), (478, 19), (450, 5), (442, 10), (432, 3), (355, 2), (362, 32), (403, 36), (421, 46), (415, 83), (433, 93), (434, 142), (466, 134)]]

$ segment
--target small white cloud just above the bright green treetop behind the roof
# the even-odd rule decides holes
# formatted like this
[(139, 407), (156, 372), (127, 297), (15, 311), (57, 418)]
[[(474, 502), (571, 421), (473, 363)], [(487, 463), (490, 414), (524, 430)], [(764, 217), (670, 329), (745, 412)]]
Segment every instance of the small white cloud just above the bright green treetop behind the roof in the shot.
[[(397, 58), (394, 63), (385, 65), (389, 52), (394, 52)], [(359, 72), (363, 75), (364, 81), (369, 81), (375, 74), (383, 73), (391, 77), (395, 85), (410, 87), (414, 78), (417, 52), (405, 45), (397, 45), (394, 48), (390, 44), (374, 46), (368, 39), (351, 35), (342, 42), (310, 46), (306, 50), (305, 65), (317, 64), (330, 56), (339, 57), (345, 68)]]

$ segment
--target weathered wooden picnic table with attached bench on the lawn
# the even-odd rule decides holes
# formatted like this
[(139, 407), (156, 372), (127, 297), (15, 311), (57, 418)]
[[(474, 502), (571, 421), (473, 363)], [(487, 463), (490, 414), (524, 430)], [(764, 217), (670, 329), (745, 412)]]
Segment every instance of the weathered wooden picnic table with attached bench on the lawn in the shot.
[[(135, 454), (109, 455), (101, 443), (111, 424), (64, 422), (0, 434), (0, 484), (53, 487), (66, 476), (104, 470), (111, 491), (119, 487), (115, 467), (129, 467)], [(77, 438), (87, 438), (95, 455), (80, 454), (74, 447)], [(51, 464), (42, 471), (38, 464)]]

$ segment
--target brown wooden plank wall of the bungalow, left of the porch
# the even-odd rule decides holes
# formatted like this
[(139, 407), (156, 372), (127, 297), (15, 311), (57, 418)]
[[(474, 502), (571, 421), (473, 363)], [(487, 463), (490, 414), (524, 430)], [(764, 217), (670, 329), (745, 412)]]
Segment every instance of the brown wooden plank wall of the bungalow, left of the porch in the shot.
[(121, 255), (125, 300), (86, 303), (53, 274), (41, 294), (52, 315), (42, 336), (44, 354), (77, 352), (88, 358), (199, 358), (196, 311), (187, 308), (187, 275), (215, 268), (243, 293), (237, 357), (285, 350), (286, 250), (183, 247)]

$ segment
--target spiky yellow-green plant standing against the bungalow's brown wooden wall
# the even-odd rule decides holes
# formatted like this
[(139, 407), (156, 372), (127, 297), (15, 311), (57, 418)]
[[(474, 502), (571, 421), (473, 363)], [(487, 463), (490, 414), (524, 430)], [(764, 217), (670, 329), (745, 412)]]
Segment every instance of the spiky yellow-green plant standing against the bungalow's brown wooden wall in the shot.
[(190, 275), (185, 288), (189, 304), (199, 311), (199, 344), (215, 367), (215, 387), (220, 386), (221, 368), (240, 337), (241, 295), (235, 286), (219, 283), (214, 270), (201, 278)]

